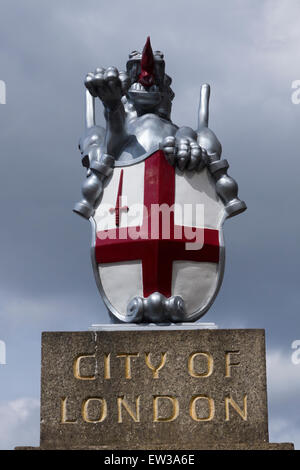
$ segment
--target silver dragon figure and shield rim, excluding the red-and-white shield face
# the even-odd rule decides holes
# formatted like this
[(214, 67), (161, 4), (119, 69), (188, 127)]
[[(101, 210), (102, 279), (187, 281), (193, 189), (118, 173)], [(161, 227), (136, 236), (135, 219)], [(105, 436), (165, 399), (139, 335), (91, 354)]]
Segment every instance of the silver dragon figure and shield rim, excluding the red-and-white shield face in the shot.
[[(148, 42), (145, 48), (149, 48)], [(149, 53), (147, 58), (145, 48), (143, 53), (133, 51), (129, 55), (126, 72), (119, 71), (116, 67), (97, 68), (86, 76), (86, 130), (80, 139), (79, 149), (87, 173), (82, 185), (83, 197), (75, 205), (74, 212), (90, 219), (92, 223), (94, 274), (114, 321), (192, 322), (207, 312), (221, 286), (225, 262), (222, 232), (217, 289), (204, 307), (189, 315), (186, 314), (184, 301), (180, 296), (165, 298), (159, 292), (147, 298), (136, 296), (129, 302), (126, 312), (117, 311), (105, 294), (95, 261), (96, 225), (93, 216), (101, 202), (106, 181), (114, 168), (138, 164), (158, 149), (164, 151), (170, 165), (182, 172), (193, 173), (201, 172), (203, 168), (208, 169), (215, 183), (215, 190), (225, 206), (222, 224), (226, 218), (246, 209), (246, 204), (238, 198), (236, 181), (227, 174), (227, 160), (221, 160), (222, 146), (208, 127), (210, 86), (204, 84), (200, 89), (197, 129), (175, 125), (171, 121), (172, 100), (175, 95), (171, 89), (172, 79), (165, 73), (163, 54), (156, 51), (153, 57)], [(152, 69), (148, 66), (151, 60)], [(97, 98), (104, 107), (105, 129), (96, 125)]]

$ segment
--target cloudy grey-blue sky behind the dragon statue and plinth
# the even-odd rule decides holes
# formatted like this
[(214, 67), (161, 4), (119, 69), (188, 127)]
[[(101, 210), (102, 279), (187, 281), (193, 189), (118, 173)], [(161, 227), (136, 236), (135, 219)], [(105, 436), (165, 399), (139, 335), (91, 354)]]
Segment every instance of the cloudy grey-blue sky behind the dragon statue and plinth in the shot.
[(1, 1), (1, 449), (38, 445), (41, 332), (108, 322), (90, 224), (72, 212), (83, 81), (124, 69), (148, 35), (173, 78), (174, 123), (196, 128), (210, 83), (210, 127), (248, 206), (225, 223), (225, 277), (202, 320), (266, 330), (270, 442), (300, 448), (299, 16), (298, 0)]

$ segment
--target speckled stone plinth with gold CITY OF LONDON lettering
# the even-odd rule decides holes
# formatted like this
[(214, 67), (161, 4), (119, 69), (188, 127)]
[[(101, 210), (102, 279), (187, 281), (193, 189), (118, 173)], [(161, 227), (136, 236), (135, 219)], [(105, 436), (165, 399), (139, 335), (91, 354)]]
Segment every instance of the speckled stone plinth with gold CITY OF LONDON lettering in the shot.
[(276, 449), (263, 330), (42, 335), (41, 449)]

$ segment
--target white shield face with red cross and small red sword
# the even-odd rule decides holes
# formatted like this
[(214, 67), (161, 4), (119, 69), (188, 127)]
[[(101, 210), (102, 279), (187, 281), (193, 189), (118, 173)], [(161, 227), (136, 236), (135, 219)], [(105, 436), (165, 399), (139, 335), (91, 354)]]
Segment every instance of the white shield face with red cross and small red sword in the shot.
[(110, 312), (129, 321), (135, 297), (184, 301), (185, 321), (210, 307), (222, 282), (224, 205), (206, 169), (174, 170), (158, 151), (116, 167), (94, 219), (93, 265)]

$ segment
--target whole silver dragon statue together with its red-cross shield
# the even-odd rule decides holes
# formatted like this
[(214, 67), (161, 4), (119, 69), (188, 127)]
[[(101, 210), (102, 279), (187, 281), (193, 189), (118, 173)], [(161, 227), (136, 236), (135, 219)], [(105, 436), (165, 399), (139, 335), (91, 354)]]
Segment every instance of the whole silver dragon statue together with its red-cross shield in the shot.
[[(246, 209), (208, 127), (209, 85), (193, 130), (171, 121), (171, 82), (149, 37), (126, 72), (97, 68), (85, 80), (87, 177), (74, 211), (92, 223), (97, 286), (117, 322), (203, 316), (222, 283), (223, 222)], [(106, 129), (95, 123), (97, 97)]]

